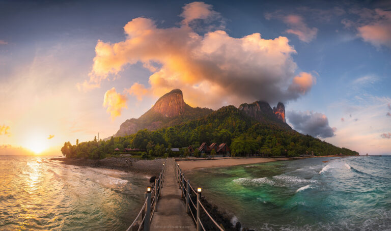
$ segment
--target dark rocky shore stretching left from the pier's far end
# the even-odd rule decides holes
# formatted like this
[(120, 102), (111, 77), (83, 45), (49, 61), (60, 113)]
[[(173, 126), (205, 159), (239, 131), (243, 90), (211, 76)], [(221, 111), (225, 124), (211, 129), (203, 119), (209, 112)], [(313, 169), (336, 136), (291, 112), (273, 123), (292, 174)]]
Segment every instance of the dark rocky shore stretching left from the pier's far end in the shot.
[(163, 158), (154, 160), (138, 160), (126, 157), (110, 157), (101, 160), (83, 159), (83, 158), (49, 158), (49, 160), (60, 161), (62, 164), (74, 166), (86, 166), (93, 168), (116, 169), (125, 172), (135, 172), (149, 176), (158, 176), (160, 174)]

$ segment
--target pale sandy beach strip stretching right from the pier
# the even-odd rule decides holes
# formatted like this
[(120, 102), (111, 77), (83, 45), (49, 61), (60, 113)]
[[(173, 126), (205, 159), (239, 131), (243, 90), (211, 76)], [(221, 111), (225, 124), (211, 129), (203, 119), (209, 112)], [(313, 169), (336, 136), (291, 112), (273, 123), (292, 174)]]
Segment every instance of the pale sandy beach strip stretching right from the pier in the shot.
[(210, 168), (210, 167), (230, 167), (244, 164), (258, 164), (258, 163), (268, 163), (275, 161), (284, 161), (284, 160), (298, 160), (298, 159), (307, 159), (307, 158), (321, 158), (321, 157), (349, 157), (349, 156), (305, 156), (305, 157), (226, 157), (226, 158), (215, 158), (215, 159), (176, 159), (180, 168), (183, 171), (200, 169), (200, 168)]

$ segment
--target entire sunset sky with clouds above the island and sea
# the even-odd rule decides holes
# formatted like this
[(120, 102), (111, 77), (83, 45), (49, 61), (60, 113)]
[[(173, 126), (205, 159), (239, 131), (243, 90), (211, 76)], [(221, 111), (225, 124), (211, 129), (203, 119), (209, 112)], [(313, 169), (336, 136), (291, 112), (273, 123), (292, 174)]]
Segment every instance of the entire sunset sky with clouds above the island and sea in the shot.
[(288, 124), (391, 150), (389, 1), (0, 1), (0, 155), (59, 154), (164, 93), (283, 102)]

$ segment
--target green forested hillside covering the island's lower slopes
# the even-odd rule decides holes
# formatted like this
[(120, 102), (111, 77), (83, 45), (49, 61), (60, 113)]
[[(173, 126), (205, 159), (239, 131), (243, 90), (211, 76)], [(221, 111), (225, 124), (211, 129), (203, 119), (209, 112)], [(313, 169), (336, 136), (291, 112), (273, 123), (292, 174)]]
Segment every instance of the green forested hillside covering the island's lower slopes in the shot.
[(114, 154), (116, 148), (136, 148), (146, 150), (150, 156), (163, 156), (166, 148), (197, 147), (202, 142), (227, 143), (234, 156), (358, 155), (355, 151), (302, 135), (278, 120), (260, 122), (235, 106), (225, 106), (201, 119), (169, 128), (156, 131), (144, 129), (136, 134), (101, 140), (99, 149), (95, 139), (76, 145), (66, 142), (61, 151), (67, 157), (98, 159)]

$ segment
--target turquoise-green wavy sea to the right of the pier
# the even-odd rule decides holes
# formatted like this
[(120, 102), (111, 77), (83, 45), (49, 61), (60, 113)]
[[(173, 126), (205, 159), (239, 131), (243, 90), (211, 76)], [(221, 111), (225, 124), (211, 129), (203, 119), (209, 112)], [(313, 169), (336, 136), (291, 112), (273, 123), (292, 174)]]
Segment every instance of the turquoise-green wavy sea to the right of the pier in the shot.
[(391, 156), (205, 168), (186, 176), (246, 227), (391, 230)]

